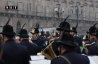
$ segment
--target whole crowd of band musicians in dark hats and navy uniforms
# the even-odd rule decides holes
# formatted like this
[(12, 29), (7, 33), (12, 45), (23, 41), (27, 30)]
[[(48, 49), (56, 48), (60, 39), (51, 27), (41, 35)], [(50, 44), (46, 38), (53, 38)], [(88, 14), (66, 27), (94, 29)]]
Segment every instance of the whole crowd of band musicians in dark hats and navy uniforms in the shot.
[(0, 33), (0, 64), (29, 64), (30, 56), (42, 52), (51, 41), (56, 55), (51, 64), (90, 64), (87, 56), (98, 55), (97, 23), (87, 30), (87, 35), (78, 36), (78, 26), (70, 27), (66, 18), (56, 28), (58, 32), (52, 32), (47, 37), (43, 30), (39, 35), (39, 27), (31, 30), (32, 36), (23, 27), (16, 34), (8, 22)]

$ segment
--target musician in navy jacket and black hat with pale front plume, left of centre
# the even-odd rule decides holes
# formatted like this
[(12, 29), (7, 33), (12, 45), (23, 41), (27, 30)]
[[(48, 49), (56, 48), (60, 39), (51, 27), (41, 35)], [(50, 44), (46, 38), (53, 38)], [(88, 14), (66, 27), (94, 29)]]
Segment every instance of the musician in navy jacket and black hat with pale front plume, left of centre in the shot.
[(46, 47), (46, 44), (45, 41), (38, 35), (39, 29), (34, 28), (32, 29), (31, 33), (32, 33), (32, 42), (39, 47), (40, 51), (42, 51), (42, 49)]

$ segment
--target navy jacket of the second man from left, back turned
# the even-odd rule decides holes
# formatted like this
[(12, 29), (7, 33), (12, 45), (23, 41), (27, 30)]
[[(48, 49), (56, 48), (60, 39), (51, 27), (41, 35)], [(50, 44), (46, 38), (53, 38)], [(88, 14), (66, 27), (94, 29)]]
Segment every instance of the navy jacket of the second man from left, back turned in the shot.
[(35, 44), (30, 43), (27, 39), (22, 40), (20, 44), (27, 47), (30, 52), (30, 55), (37, 55), (37, 53), (39, 52), (38, 47)]

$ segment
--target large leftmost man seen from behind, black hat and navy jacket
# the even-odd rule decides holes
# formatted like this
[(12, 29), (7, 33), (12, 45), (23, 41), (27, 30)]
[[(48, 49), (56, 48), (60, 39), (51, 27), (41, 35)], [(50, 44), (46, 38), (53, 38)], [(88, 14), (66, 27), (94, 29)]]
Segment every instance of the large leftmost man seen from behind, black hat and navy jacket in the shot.
[(27, 48), (15, 42), (15, 32), (13, 27), (5, 25), (1, 33), (3, 35), (4, 45), (2, 59), (6, 64), (28, 64), (30, 54)]

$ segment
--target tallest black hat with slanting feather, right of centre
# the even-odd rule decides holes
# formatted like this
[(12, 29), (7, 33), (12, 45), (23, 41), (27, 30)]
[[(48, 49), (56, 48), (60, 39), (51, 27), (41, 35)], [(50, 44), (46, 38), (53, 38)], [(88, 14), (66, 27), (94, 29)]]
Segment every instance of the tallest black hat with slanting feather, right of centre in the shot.
[(65, 29), (65, 31), (67, 31), (67, 32), (70, 31), (70, 24), (68, 22), (66, 22), (66, 20), (67, 20), (68, 17), (66, 17), (65, 20), (60, 23), (59, 27), (56, 30), (63, 31)]

